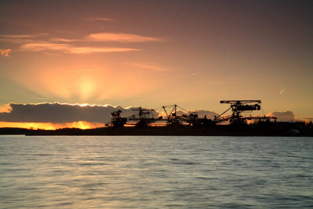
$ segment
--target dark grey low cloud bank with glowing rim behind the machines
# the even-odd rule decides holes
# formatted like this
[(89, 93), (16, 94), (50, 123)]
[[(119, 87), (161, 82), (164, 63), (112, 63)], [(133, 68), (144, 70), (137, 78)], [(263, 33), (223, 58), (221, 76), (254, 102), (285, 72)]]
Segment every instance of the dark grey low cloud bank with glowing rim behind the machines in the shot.
[[(79, 105), (60, 103), (39, 104), (16, 104), (10, 103), (5, 106), (6, 111), (0, 112), (0, 122), (11, 123), (73, 123), (78, 121), (107, 123), (110, 121), (110, 113), (121, 110), (121, 117), (130, 117), (138, 114), (133, 111), (137, 107), (123, 108), (110, 105)], [(3, 108), (4, 110), (4, 108)], [(167, 110), (169, 111), (169, 110)], [(189, 111), (193, 112), (193, 111)], [(169, 113), (169, 112), (168, 112)], [(188, 112), (178, 110), (177, 115), (189, 115)], [(154, 117), (165, 116), (163, 112), (153, 112)], [(218, 115), (212, 111), (198, 110), (198, 116), (203, 118), (214, 118)]]

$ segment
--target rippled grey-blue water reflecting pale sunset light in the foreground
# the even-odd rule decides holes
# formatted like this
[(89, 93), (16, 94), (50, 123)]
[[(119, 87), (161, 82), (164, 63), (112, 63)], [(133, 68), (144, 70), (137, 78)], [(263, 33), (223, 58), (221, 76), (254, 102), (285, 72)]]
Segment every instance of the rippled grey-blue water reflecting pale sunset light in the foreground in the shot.
[(1, 208), (313, 208), (313, 138), (0, 136)]

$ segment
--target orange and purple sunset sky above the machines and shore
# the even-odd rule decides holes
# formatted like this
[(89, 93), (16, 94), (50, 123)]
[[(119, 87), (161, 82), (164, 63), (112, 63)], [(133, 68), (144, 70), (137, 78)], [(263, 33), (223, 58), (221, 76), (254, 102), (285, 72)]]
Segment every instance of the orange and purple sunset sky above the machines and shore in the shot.
[(312, 120), (312, 37), (312, 1), (2, 0), (0, 127), (97, 127), (115, 106), (221, 114), (220, 100)]

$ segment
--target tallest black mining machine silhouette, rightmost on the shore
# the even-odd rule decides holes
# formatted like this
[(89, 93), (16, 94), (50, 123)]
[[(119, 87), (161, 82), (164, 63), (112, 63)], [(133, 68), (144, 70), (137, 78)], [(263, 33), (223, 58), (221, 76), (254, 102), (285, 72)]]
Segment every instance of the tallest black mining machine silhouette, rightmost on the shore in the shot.
[[(265, 119), (270, 120), (274, 119), (276, 121), (276, 117), (251, 117), (251, 114), (249, 117), (242, 116), (242, 113), (246, 112), (252, 112), (254, 110), (260, 110), (261, 106), (259, 105), (261, 100), (228, 100), (228, 101), (221, 101), (221, 103), (230, 104), (230, 108), (228, 110), (232, 110), (232, 114), (228, 116), (221, 117), (225, 112), (220, 114), (219, 116), (215, 117), (214, 122), (216, 124), (220, 124), (225, 121), (229, 121), (231, 124), (238, 124), (238, 123), (245, 123), (246, 120), (252, 120), (252, 119)], [(251, 103), (255, 103), (251, 105)]]

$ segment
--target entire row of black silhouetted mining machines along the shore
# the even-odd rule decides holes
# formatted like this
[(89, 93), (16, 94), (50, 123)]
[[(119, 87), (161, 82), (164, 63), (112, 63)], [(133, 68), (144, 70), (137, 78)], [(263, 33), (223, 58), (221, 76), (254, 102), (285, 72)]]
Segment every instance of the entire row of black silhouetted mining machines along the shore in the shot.
[[(198, 117), (198, 112), (189, 112), (184, 110), (183, 108), (175, 105), (163, 106), (156, 110), (154, 109), (146, 109), (142, 107), (138, 107), (133, 109), (133, 111), (139, 111), (137, 114), (132, 115), (128, 118), (121, 117), (121, 110), (117, 112), (111, 113), (111, 121), (106, 123), (105, 126), (113, 126), (113, 127), (123, 127), (124, 125), (134, 125), (138, 127), (146, 127), (155, 125), (181, 125), (186, 124), (187, 126), (193, 127), (210, 127), (213, 125), (218, 125), (223, 122), (229, 122), (230, 124), (244, 124), (247, 120), (257, 119), (257, 120), (266, 120), (270, 121), (271, 119), (276, 122), (276, 117), (252, 117), (251, 114), (248, 117), (243, 116), (246, 115), (244, 113), (251, 113), (255, 110), (261, 110), (260, 100), (229, 100), (229, 101), (221, 101), (221, 103), (230, 104), (230, 108), (228, 108), (225, 112), (223, 112), (219, 116), (215, 116), (214, 120), (208, 119), (206, 116), (204, 118)], [(255, 104), (251, 104), (255, 103)], [(188, 112), (189, 115), (178, 115), (177, 107)], [(170, 114), (167, 114), (166, 108), (172, 108)], [(159, 109), (163, 109), (166, 116), (158, 116)], [(228, 110), (232, 111), (231, 115), (223, 116)], [(156, 115), (157, 114), (157, 115)], [(263, 113), (264, 114), (264, 113)], [(129, 122), (129, 123), (128, 123)]]

